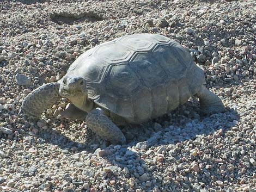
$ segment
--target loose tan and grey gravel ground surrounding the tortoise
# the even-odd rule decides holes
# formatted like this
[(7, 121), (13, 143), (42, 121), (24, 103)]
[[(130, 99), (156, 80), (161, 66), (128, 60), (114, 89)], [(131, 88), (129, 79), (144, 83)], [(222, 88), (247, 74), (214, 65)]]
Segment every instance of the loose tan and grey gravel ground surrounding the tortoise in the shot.
[[(256, 189), (256, 2), (91, 0), (0, 2), (0, 191), (249, 191)], [(23, 98), (65, 75), (84, 51), (125, 34), (168, 36), (191, 52), (226, 112), (196, 100), (109, 145), (68, 101), (29, 123)]]

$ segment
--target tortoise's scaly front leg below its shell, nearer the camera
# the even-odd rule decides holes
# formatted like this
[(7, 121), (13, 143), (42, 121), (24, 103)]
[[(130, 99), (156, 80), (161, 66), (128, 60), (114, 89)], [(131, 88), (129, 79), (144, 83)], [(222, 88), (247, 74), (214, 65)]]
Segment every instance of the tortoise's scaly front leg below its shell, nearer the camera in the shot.
[(86, 117), (87, 126), (101, 138), (112, 144), (125, 144), (121, 130), (103, 113), (100, 108), (90, 111)]

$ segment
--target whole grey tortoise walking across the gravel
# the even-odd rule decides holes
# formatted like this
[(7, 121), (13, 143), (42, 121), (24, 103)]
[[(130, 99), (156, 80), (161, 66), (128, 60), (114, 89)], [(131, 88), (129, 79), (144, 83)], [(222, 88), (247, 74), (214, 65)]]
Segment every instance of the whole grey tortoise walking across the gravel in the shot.
[(118, 126), (167, 114), (191, 96), (206, 114), (224, 112), (221, 99), (204, 84), (203, 70), (178, 42), (158, 34), (126, 35), (80, 55), (62, 79), (28, 94), (20, 113), (38, 118), (65, 97), (70, 104), (63, 117), (85, 120), (100, 137), (124, 144)]

